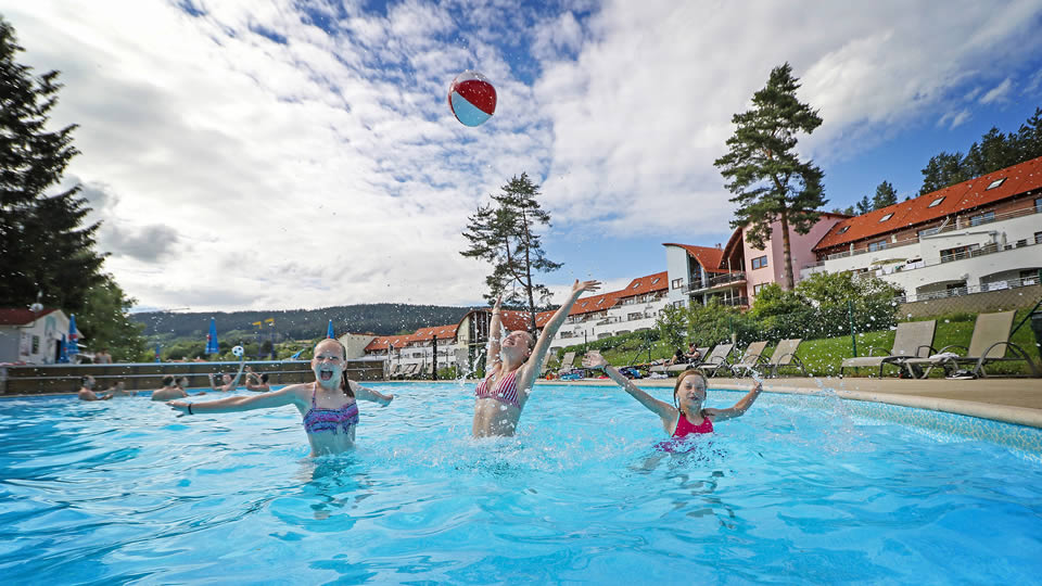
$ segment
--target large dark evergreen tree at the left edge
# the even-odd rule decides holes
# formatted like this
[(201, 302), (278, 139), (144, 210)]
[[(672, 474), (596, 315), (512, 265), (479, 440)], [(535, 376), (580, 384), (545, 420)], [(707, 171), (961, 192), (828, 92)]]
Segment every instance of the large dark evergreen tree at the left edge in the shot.
[(0, 306), (40, 301), (66, 311), (82, 309), (88, 291), (102, 281), (103, 257), (94, 252), (98, 224), (79, 186), (48, 194), (61, 181), (75, 125), (47, 130), (58, 103), (58, 72), (34, 77), (15, 61), (23, 48), (0, 17)]

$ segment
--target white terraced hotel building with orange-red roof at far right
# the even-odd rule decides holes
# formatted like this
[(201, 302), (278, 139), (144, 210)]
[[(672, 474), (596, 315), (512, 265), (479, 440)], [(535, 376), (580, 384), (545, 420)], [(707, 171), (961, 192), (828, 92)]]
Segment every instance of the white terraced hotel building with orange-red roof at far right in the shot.
[(1039, 282), (1042, 157), (836, 224), (815, 272), (872, 273), (906, 301)]

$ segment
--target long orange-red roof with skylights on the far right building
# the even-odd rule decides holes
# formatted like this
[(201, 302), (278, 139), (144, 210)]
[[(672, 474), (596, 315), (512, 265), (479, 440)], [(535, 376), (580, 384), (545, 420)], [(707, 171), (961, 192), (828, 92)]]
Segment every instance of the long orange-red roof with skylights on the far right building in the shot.
[[(1001, 184), (988, 189), (993, 182), (1005, 179)], [(815, 251), (831, 249), (867, 238), (887, 234), (919, 224), (933, 221), (967, 212), (982, 205), (1006, 200), (1028, 191), (1042, 188), (1042, 157), (1026, 161), (1019, 165), (982, 175), (976, 179), (955, 183), (942, 190), (919, 195), (913, 200), (889, 205), (867, 214), (840, 221), (825, 234)], [(930, 207), (936, 200), (941, 202)], [(892, 214), (889, 218), (885, 218)], [(848, 229), (839, 233), (844, 227)]]

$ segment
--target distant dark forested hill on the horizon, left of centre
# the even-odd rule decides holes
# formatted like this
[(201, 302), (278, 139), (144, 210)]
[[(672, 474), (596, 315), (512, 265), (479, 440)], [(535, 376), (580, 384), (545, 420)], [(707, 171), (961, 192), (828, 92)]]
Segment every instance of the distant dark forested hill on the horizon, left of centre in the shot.
[[(144, 323), (144, 335), (150, 337), (206, 336), (209, 318), (217, 322), (217, 336), (232, 330), (254, 331), (256, 321), (275, 319), (275, 332), (280, 339), (306, 340), (326, 335), (329, 320), (338, 335), (353, 332), (371, 332), (377, 335), (393, 335), (414, 332), (427, 326), (458, 323), (470, 307), (445, 307), (437, 305), (408, 305), (377, 303), (368, 305), (343, 305), (321, 309), (292, 309), (288, 311), (208, 311), (171, 314), (148, 311), (134, 314), (135, 321)], [(265, 326), (267, 330), (267, 326)]]

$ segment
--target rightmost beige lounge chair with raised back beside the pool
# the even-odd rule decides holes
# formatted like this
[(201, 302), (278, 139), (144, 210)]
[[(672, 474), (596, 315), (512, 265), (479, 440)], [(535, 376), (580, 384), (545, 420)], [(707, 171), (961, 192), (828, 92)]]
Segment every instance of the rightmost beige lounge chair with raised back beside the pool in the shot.
[[(927, 367), (923, 378), (930, 375), (930, 371), (936, 367), (941, 367), (944, 372), (951, 374), (958, 370), (960, 365), (973, 366), (969, 372), (974, 377), (987, 377), (984, 366), (989, 362), (1024, 360), (1028, 364), (1028, 370), (1032, 377), (1039, 377), (1039, 369), (1028, 356), (1024, 348), (1009, 342), (1011, 328), (1016, 311), (1002, 311), (999, 314), (980, 314), (977, 316), (977, 322), (974, 323), (974, 335), (969, 340), (969, 347), (951, 345), (944, 346), (937, 354), (929, 358), (912, 358), (905, 364), (912, 367)], [(953, 351), (962, 349), (963, 356), (958, 356)], [(1006, 352), (1013, 352), (1012, 358), (1006, 358)]]

